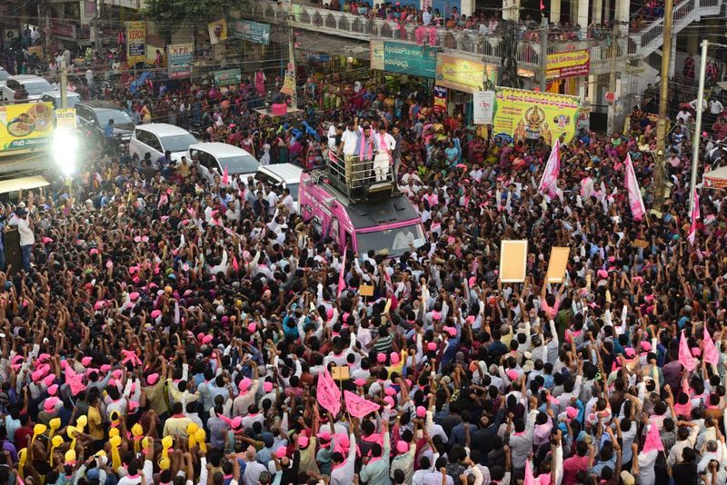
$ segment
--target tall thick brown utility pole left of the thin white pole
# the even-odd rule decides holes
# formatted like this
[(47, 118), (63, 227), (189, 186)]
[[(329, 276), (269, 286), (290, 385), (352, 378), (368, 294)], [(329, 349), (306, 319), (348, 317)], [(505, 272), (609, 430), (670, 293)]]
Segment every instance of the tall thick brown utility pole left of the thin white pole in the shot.
[[(659, 89), (659, 120), (656, 122), (656, 156), (653, 171), (653, 208), (662, 210), (666, 193), (666, 131), (669, 104), (669, 64), (672, 62), (672, 20), (673, 0), (664, 5), (664, 30), (662, 45), (662, 84)], [(700, 106), (701, 107), (701, 106)]]

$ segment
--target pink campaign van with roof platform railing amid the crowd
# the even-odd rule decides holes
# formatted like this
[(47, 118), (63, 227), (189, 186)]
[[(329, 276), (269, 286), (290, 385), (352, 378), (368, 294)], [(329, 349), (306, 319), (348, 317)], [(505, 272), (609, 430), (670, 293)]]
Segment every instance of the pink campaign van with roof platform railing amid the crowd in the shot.
[(397, 257), (425, 243), (422, 220), (391, 167), (374, 171), (373, 162), (346, 163), (332, 154), (327, 165), (301, 175), (298, 203), (317, 233), (359, 254)]

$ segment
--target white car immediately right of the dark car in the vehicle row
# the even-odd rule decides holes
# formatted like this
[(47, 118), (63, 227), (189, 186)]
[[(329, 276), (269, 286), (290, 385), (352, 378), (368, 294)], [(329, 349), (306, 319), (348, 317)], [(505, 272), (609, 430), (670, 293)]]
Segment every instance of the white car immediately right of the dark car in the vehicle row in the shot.
[(170, 152), (174, 162), (179, 162), (187, 150), (197, 139), (178, 126), (166, 123), (139, 124), (134, 128), (134, 134), (129, 141), (129, 154), (144, 160), (144, 155), (150, 153), (152, 162), (156, 162), (164, 156), (164, 152)]

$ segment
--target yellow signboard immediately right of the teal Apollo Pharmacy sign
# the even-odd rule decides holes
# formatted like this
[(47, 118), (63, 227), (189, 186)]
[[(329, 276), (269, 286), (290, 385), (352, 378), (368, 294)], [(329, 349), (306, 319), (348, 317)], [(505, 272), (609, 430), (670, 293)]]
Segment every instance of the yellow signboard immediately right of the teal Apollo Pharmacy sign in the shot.
[(436, 66), (436, 84), (463, 93), (493, 89), (497, 76), (497, 67), (493, 64), (450, 54), (437, 54)]

